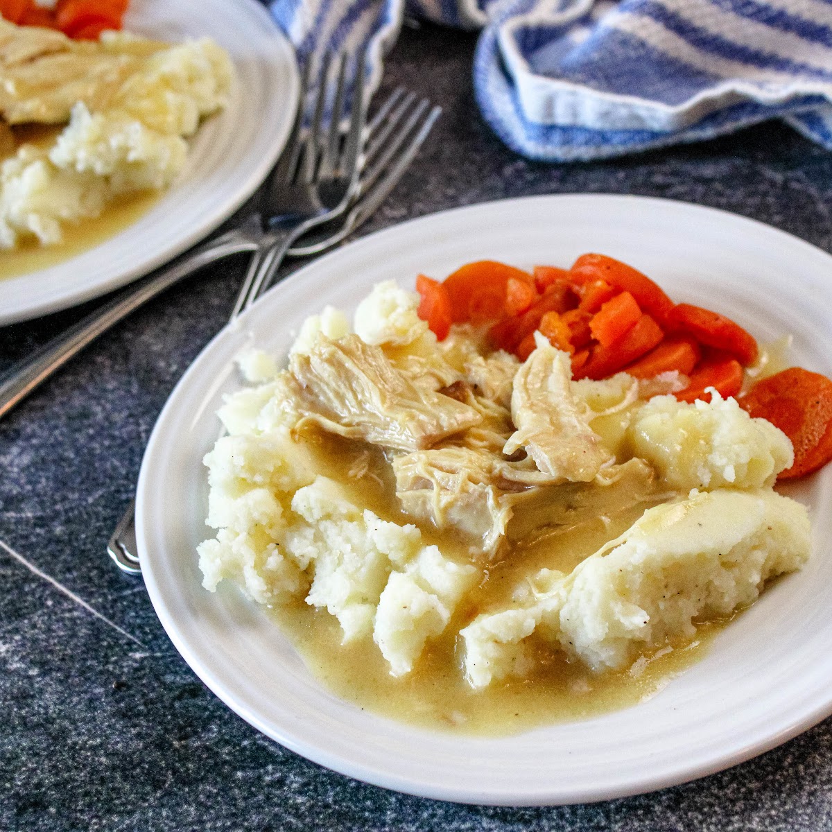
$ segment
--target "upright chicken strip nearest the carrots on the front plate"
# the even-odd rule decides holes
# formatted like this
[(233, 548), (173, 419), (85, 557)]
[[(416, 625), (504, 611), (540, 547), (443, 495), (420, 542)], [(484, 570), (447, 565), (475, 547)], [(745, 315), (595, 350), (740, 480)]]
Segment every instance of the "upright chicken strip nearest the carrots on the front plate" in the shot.
[(537, 349), (518, 369), (512, 393), (517, 431), (503, 453), (519, 448), (552, 478), (588, 483), (614, 461), (601, 438), (592, 432), (587, 414), (572, 395), (569, 356), (536, 333)]

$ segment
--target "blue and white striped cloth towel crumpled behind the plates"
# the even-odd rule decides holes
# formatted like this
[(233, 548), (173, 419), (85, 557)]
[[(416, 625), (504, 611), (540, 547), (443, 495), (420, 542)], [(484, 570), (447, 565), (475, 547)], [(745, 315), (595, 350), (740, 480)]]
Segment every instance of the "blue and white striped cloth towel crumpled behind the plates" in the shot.
[[(405, 0), (275, 0), (301, 58), (370, 47), (381, 75)], [(832, 0), (407, 0), (483, 28), (474, 90), (513, 150), (619, 156), (782, 117), (832, 150)]]

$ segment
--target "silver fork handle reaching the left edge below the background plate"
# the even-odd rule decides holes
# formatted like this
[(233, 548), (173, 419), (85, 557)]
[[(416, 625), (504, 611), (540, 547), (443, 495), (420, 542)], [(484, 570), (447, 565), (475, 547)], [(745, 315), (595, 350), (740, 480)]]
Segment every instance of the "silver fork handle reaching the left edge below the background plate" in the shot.
[(257, 241), (253, 236), (236, 230), (231, 231), (229, 234), (201, 245), (147, 280), (143, 280), (140, 284), (122, 292), (121, 295), (99, 307), (92, 314), (62, 332), (57, 338), (48, 341), (27, 359), (15, 364), (0, 377), (0, 418), (16, 404), (22, 402), (38, 384), (48, 379), (87, 344), (178, 280), (182, 280), (201, 269), (202, 266), (214, 263), (216, 260), (243, 251), (253, 251), (256, 248)]

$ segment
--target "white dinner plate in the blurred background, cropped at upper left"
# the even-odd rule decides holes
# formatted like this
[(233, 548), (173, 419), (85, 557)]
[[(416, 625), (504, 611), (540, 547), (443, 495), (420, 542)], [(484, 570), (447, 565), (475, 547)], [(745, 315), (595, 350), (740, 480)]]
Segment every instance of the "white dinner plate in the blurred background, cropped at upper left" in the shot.
[(59, 265), (0, 280), (0, 324), (103, 295), (181, 254), (254, 193), (289, 136), (295, 52), (256, 0), (132, 0), (125, 28), (170, 42), (213, 37), (236, 68), (230, 104), (200, 126), (185, 170), (139, 220)]

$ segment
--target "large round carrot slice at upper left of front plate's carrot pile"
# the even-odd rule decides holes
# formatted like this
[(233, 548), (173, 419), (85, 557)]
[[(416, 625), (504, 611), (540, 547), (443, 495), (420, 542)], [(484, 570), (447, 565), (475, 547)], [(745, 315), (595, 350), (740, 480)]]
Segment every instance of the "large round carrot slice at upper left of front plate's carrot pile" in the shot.
[(448, 275), (445, 288), (454, 324), (484, 324), (504, 317), (509, 278), (532, 282), (532, 275), (497, 260), (467, 263)]

